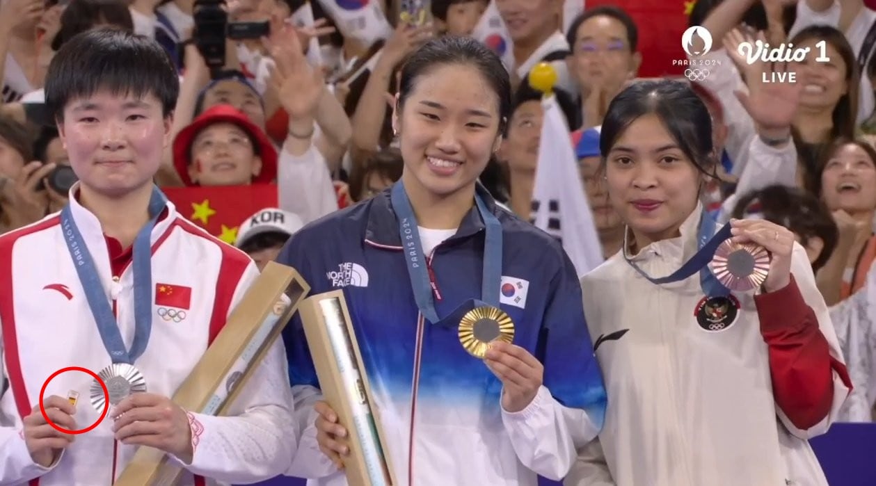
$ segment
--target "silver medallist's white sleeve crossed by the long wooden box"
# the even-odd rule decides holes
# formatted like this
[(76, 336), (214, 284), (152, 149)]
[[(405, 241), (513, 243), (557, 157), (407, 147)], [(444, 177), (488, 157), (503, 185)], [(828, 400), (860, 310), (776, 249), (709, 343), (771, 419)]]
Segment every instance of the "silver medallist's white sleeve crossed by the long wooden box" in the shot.
[[(251, 263), (237, 285), (232, 309), (257, 277), (258, 269)], [(185, 464), (174, 459), (189, 472), (220, 482), (258, 482), (283, 474), (298, 436), (290, 404), (286, 349), (278, 338), (244, 384), (228, 416), (189, 412), (193, 460)]]

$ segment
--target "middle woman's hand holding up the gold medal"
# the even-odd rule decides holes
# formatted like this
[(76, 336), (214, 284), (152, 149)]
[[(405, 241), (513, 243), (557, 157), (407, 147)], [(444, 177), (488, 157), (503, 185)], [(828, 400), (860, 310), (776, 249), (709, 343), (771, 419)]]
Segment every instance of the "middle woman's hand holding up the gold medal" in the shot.
[(520, 412), (533, 402), (545, 368), (529, 351), (507, 342), (492, 342), (484, 363), (502, 381), (505, 412)]

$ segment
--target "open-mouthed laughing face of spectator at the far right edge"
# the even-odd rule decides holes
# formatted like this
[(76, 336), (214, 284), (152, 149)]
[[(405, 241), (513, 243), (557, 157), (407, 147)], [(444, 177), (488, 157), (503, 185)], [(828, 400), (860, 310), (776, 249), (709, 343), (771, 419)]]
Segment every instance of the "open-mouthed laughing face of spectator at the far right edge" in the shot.
[(822, 197), (831, 211), (854, 214), (876, 209), (876, 165), (858, 144), (844, 144), (828, 159)]

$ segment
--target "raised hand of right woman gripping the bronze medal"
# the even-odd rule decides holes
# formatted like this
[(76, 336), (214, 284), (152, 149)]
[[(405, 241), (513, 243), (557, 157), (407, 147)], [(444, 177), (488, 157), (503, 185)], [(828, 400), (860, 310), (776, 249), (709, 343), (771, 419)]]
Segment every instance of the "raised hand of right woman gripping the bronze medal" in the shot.
[(791, 252), (794, 233), (765, 220), (731, 220), (731, 234), (736, 243), (755, 243), (770, 252), (769, 275), (764, 287), (767, 292), (785, 288), (791, 282)]

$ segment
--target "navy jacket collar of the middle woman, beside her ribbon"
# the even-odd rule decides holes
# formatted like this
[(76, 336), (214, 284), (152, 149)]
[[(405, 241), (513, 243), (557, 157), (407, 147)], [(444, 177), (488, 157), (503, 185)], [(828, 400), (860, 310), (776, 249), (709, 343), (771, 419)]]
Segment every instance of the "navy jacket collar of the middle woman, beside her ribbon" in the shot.
[[(498, 215), (500, 209), (486, 188), (477, 183), (475, 191), (484, 200), (487, 210), (493, 215)], [(380, 246), (401, 248), (399, 219), (392, 208), (391, 194), (392, 187), (389, 187), (371, 199), (371, 208), (368, 211), (368, 225), (365, 229), (365, 240), (377, 243)], [(484, 225), (484, 220), (481, 219), (480, 213), (477, 211), (477, 205), (472, 203), (469, 212), (463, 216), (459, 229), (456, 229), (456, 235), (450, 237), (448, 241), (475, 235), (484, 228), (486, 226)]]

